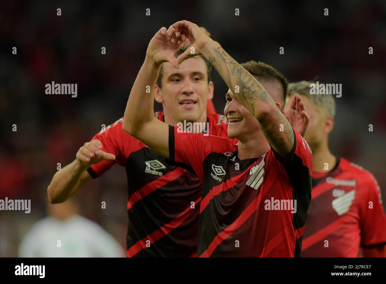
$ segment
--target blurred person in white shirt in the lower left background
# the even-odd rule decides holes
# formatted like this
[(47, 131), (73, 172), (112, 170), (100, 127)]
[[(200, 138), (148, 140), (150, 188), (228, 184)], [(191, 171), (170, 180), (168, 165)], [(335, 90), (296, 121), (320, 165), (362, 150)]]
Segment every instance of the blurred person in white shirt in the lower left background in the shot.
[(124, 249), (97, 223), (78, 215), (78, 202), (47, 204), (48, 217), (24, 236), (19, 257), (123, 257)]

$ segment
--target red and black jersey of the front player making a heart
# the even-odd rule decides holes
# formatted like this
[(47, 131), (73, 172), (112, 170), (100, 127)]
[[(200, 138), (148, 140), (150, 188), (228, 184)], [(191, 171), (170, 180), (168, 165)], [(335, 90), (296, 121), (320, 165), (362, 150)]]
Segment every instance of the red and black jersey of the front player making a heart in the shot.
[(169, 128), (169, 163), (203, 182), (199, 257), (298, 257), (311, 201), (312, 152), (294, 130), (284, 160), (271, 148), (240, 160), (231, 141)]

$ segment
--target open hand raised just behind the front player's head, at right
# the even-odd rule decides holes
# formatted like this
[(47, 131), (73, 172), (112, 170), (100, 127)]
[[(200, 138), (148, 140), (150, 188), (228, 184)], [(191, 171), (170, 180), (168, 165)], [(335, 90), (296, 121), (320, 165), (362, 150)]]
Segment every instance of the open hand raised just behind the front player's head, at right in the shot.
[(284, 114), (289, 124), (304, 137), (310, 122), (310, 115), (307, 113), (306, 107), (301, 100), (300, 95), (295, 94), (292, 97), (288, 111)]

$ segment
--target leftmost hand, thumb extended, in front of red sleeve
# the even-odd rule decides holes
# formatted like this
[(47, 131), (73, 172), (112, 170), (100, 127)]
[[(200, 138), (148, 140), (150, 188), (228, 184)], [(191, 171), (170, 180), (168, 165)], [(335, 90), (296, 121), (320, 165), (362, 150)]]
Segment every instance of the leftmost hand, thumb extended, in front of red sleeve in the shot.
[(85, 145), (79, 148), (76, 153), (76, 160), (81, 168), (88, 168), (93, 164), (99, 163), (103, 160), (113, 161), (115, 155), (106, 153), (102, 150), (103, 146), (99, 140), (86, 142)]

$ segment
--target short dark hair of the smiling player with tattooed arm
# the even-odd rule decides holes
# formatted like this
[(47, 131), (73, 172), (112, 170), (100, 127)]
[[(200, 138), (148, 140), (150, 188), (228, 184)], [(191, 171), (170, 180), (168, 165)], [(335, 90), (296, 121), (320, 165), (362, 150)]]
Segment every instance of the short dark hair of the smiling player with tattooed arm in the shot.
[[(283, 101), (284, 104), (287, 100), (287, 92), (288, 92), (288, 81), (286, 77), (283, 76), (278, 70), (273, 68), (271, 65), (268, 65), (263, 62), (256, 62), (254, 60), (247, 61), (242, 63), (241, 66), (245, 68), (252, 76), (266, 79), (266, 80), (277, 80), (281, 84), (283, 88)], [(281, 106), (281, 109), (284, 109), (284, 104)]]

